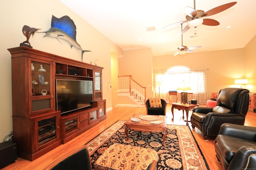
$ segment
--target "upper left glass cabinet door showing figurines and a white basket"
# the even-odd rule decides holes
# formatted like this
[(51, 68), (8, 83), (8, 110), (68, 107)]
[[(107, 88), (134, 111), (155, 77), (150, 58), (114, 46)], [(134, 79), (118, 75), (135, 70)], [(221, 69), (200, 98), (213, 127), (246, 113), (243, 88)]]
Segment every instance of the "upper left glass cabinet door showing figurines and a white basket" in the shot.
[(52, 63), (31, 61), (31, 114), (53, 109)]

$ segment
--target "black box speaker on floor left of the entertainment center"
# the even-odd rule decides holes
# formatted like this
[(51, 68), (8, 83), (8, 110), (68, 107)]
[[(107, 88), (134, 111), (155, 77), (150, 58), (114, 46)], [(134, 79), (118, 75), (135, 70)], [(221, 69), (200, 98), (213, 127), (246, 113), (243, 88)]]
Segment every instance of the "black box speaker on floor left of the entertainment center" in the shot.
[(0, 143), (0, 169), (17, 159), (17, 144), (12, 142)]

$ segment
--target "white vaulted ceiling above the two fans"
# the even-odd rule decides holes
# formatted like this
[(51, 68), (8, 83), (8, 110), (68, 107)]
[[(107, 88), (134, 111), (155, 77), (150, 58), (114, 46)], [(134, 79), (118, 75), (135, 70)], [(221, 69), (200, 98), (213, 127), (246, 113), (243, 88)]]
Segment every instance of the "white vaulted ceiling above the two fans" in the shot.
[[(194, 0), (60, 1), (123, 50), (150, 47), (153, 56), (166, 55), (182, 45), (181, 25), (170, 24), (186, 20), (186, 6), (194, 8)], [(196, 10), (207, 12), (229, 2), (234, 1), (196, 0)], [(190, 28), (183, 34), (183, 45), (202, 46), (194, 49), (195, 53), (243, 48), (256, 35), (255, 16), (256, 0), (240, 0), (223, 12), (204, 17), (217, 20), (220, 25), (200, 25), (196, 28), (196, 37), (191, 37), (194, 36), (195, 29)], [(162, 28), (166, 25), (170, 26)], [(184, 23), (182, 27), (186, 25), (187, 23)], [(227, 26), (231, 28), (227, 29)], [(155, 30), (147, 31), (148, 27), (155, 27)]]

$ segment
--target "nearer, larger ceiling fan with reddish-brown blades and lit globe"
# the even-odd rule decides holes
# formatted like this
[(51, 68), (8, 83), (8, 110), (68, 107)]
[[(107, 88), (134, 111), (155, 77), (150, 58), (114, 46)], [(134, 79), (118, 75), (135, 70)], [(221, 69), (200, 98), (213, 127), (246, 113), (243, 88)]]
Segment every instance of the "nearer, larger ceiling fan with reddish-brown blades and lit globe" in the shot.
[[(234, 6), (237, 2), (230, 2), (228, 4), (224, 4), (221, 6), (217, 6), (216, 8), (212, 8), (211, 10), (204, 12), (203, 10), (196, 10), (196, 0), (194, 0), (194, 8), (191, 8), (189, 6), (185, 7), (185, 13), (186, 13), (186, 20), (180, 21), (177, 23), (185, 23), (188, 22), (188, 25), (182, 30), (182, 34), (188, 31), (191, 27), (198, 27), (199, 25), (209, 25), (209, 26), (216, 26), (220, 25), (220, 23), (216, 20), (205, 18), (202, 19), (205, 16), (212, 16), (215, 14), (218, 14), (224, 10), (227, 10), (228, 8)], [(173, 25), (176, 23), (172, 23), (170, 25)], [(167, 25), (165, 27), (168, 27), (170, 25)], [(164, 28), (164, 27), (163, 27)]]

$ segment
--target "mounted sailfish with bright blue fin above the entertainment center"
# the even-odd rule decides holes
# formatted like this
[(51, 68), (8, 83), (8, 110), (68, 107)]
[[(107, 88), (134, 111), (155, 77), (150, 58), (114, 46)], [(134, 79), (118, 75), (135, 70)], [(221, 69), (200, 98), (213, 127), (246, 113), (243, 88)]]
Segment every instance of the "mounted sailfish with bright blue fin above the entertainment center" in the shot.
[[(82, 51), (82, 61), (83, 54), (88, 50), (83, 50), (81, 46), (76, 42), (76, 25), (73, 20), (68, 16), (63, 16), (61, 18), (56, 18), (52, 16), (51, 28), (48, 31), (41, 33), (46, 33), (44, 37), (52, 37), (58, 39), (63, 39), (67, 41), (71, 48), (76, 47), (78, 50)], [(60, 40), (58, 40), (60, 41)], [(60, 42), (61, 43), (61, 42)]]

